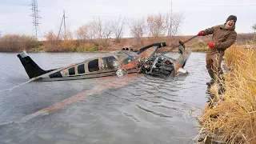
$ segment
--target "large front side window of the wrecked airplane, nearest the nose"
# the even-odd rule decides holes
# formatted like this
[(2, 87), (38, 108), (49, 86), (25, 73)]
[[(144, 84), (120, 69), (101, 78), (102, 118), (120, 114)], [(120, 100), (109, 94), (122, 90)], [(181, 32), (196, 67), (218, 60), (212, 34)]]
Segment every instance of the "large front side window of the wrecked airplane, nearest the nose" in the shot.
[(118, 60), (114, 56), (102, 58), (102, 70), (118, 68)]

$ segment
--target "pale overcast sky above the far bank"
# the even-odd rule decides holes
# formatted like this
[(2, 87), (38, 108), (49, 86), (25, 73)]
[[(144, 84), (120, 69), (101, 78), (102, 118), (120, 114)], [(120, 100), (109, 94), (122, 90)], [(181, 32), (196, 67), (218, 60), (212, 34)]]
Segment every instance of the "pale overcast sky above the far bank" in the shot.
[[(31, 0), (0, 0), (0, 32), (4, 34), (32, 34)], [(230, 14), (238, 17), (236, 31), (251, 33), (256, 23), (255, 0), (173, 0), (173, 13), (182, 13), (181, 35), (198, 34), (199, 30), (226, 22)], [(102, 20), (142, 18), (149, 14), (166, 14), (171, 0), (38, 0), (41, 34), (58, 31), (66, 12), (66, 26), (77, 30), (79, 26), (100, 17)], [(126, 31), (125, 36), (130, 36)]]

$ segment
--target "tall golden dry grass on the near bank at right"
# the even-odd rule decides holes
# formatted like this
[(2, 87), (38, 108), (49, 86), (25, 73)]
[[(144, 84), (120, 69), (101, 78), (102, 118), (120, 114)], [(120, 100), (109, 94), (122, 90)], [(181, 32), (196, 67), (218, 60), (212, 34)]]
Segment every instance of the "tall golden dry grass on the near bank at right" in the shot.
[(214, 104), (203, 111), (201, 130), (215, 141), (256, 143), (256, 50), (233, 46), (225, 56), (226, 92), (211, 90)]

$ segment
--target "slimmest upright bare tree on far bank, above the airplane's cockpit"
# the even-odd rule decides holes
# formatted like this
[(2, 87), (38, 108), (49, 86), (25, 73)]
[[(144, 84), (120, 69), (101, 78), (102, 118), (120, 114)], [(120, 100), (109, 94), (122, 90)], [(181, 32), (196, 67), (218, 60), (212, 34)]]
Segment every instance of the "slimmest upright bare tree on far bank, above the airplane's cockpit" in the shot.
[(119, 16), (117, 22), (113, 22), (115, 42), (118, 42), (118, 43), (120, 42), (120, 39), (124, 34), (124, 31), (123, 31), (124, 24), (125, 24), (125, 18), (121, 19), (121, 16)]

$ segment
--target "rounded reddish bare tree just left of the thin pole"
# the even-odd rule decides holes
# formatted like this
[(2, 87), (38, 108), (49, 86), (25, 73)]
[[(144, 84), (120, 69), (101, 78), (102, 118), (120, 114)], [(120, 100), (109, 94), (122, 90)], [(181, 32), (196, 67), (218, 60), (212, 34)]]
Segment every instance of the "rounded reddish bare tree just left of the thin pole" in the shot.
[(162, 14), (149, 15), (146, 18), (147, 26), (150, 30), (150, 36), (159, 38), (166, 33), (166, 16)]

